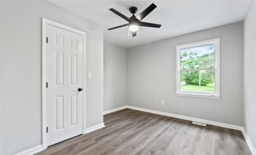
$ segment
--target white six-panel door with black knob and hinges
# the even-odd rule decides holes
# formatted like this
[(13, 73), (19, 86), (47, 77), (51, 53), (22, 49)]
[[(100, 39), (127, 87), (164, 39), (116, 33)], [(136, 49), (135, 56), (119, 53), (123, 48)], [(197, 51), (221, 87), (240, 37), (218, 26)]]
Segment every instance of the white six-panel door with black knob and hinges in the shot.
[(49, 146), (82, 134), (83, 36), (47, 25), (47, 40)]

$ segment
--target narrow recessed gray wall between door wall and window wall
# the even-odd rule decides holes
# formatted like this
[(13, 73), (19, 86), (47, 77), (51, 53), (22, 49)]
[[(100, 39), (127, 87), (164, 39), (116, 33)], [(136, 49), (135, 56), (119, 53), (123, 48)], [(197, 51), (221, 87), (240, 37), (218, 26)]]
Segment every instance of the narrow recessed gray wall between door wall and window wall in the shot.
[(127, 49), (104, 41), (104, 111), (127, 105)]

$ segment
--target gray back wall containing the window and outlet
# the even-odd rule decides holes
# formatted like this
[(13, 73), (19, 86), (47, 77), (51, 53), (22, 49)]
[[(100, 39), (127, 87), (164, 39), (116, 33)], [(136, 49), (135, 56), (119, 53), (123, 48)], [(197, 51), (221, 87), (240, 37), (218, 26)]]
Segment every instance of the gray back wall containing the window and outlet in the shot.
[[(220, 38), (221, 99), (177, 96), (176, 45), (214, 38)], [(243, 125), (243, 22), (129, 48), (128, 105)]]

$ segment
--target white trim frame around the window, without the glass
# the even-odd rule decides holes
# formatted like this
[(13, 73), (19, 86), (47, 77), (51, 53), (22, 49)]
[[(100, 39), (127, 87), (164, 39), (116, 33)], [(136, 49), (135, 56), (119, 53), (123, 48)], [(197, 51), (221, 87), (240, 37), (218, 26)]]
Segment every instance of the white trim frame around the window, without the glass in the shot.
[[(214, 45), (214, 94), (180, 91), (180, 50)], [(176, 46), (176, 95), (220, 99), (220, 38)]]

